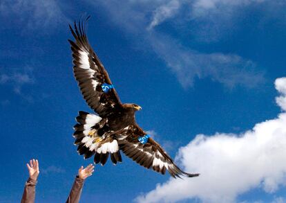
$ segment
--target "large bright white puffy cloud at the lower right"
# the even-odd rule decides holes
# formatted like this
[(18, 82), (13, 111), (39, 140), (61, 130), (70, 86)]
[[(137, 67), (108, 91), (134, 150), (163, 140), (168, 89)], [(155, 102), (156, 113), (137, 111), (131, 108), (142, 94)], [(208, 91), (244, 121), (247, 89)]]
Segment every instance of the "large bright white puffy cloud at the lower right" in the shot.
[(275, 193), (286, 186), (286, 78), (278, 78), (275, 85), (280, 92), (276, 101), (283, 110), (277, 118), (241, 134), (198, 134), (180, 148), (176, 159), (185, 171), (201, 173), (200, 177), (169, 179), (136, 201), (236, 202), (238, 195), (253, 188)]

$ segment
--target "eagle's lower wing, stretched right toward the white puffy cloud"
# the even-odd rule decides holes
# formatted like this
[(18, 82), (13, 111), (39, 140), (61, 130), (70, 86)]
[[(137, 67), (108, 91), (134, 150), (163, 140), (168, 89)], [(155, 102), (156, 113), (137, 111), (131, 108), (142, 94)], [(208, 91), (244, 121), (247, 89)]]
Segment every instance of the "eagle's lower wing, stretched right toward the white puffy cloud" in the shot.
[(140, 143), (138, 138), (146, 133), (138, 125), (129, 125), (118, 138), (120, 150), (137, 164), (145, 168), (153, 168), (158, 173), (165, 174), (169, 171), (172, 177), (196, 177), (199, 174), (189, 174), (180, 170), (173, 160), (153, 139), (149, 138), (146, 143)]

